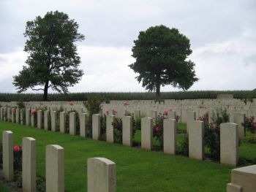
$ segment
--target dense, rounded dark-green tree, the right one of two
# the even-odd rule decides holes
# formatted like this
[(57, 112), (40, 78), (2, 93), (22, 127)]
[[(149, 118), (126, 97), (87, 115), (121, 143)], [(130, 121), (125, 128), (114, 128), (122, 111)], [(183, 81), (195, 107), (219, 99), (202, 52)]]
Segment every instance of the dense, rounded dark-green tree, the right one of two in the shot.
[(176, 28), (154, 26), (140, 31), (132, 47), (132, 57), (136, 59), (129, 67), (138, 73), (137, 80), (148, 91), (160, 95), (161, 86), (189, 89), (198, 79), (195, 64), (187, 60), (192, 53), (189, 39)]

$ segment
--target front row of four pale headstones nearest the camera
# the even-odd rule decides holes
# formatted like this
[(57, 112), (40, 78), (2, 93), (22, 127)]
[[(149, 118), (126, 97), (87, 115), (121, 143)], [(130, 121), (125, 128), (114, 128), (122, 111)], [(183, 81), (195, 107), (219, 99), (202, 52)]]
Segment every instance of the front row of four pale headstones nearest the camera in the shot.
[[(13, 134), (3, 131), (3, 172), (7, 181), (14, 177)], [(23, 191), (36, 190), (36, 139), (24, 137), (22, 140), (22, 186)], [(64, 191), (64, 148), (59, 145), (46, 146), (46, 191)], [(87, 188), (89, 192), (116, 191), (116, 164), (106, 158), (87, 160)]]

